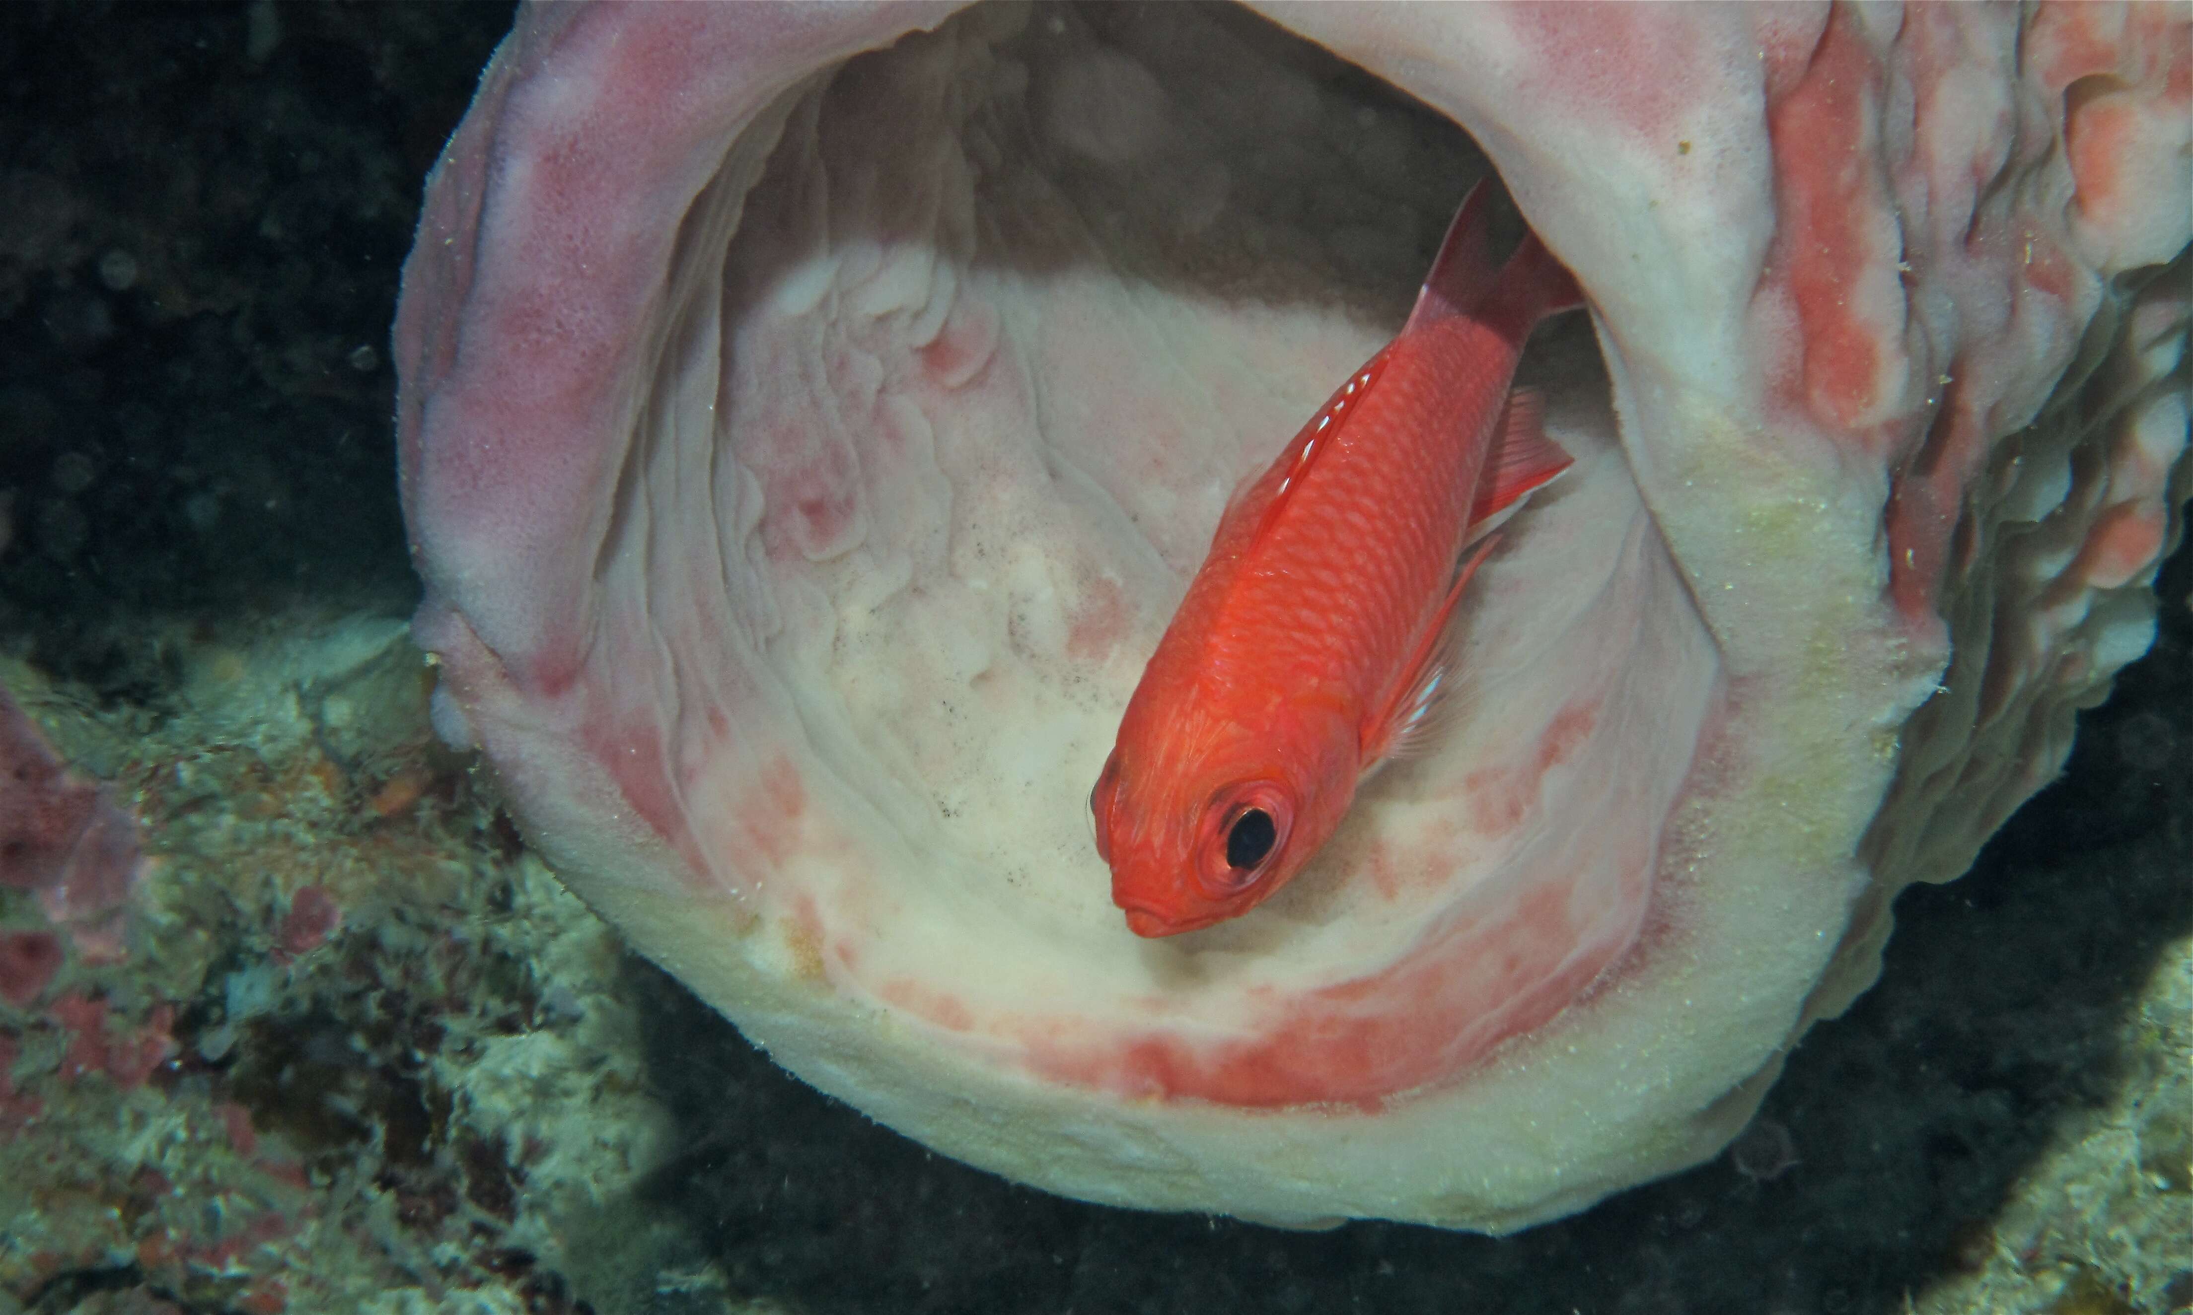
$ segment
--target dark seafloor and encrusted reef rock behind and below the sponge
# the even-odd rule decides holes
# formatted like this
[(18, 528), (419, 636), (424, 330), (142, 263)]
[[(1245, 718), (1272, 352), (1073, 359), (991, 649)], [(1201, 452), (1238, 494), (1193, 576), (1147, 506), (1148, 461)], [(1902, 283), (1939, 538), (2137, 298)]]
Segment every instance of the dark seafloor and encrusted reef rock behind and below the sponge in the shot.
[(425, 728), (386, 333), (507, 22), (0, 7), (0, 686), (145, 857), (0, 870), (0, 1315), (2193, 1306), (2189, 550), (2064, 780), (1904, 896), (1735, 1151), (1579, 1219), (1079, 1205), (776, 1072)]

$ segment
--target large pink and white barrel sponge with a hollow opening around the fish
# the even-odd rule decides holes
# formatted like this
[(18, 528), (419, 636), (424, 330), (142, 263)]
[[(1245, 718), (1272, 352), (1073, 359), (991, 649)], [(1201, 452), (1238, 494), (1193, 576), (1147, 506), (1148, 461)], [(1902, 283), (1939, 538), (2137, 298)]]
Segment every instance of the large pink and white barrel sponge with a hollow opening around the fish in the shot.
[[(1833, 118), (1871, 112), (1851, 9), (952, 11), (526, 11), (397, 322), (436, 723), (787, 1067), (1024, 1181), (1509, 1230), (1713, 1153), (1871, 982), (1897, 885), (1963, 870), (2145, 649), (2143, 565), (2081, 552), (2105, 504), (2066, 502), (2116, 430), (1972, 395), (2055, 377), (2009, 340), (1897, 355), (1928, 278), (2101, 296), (2015, 210), (2070, 180), (1980, 188), (2024, 228), (1974, 210), (1954, 278), (1901, 252), (1936, 239), (1822, 145), (1882, 136)], [(2015, 22), (1985, 13), (1908, 24)], [(1897, 77), (1906, 116), (1969, 103)], [(1577, 465), (1472, 583), (1441, 743), (1154, 953), (1088, 835), (1121, 708), (1239, 478), (1384, 346), (1487, 175), (1592, 302), (1518, 379)], [(1910, 405), (1875, 388), (1899, 368)], [(1945, 390), (1934, 430), (1910, 408)], [(2018, 443), (1974, 419), (2013, 412)], [(2175, 441), (2125, 478), (2182, 489)], [(2125, 552), (2175, 537), (2167, 487), (2107, 506), (2149, 493)], [(1952, 625), (1996, 642), (1950, 666)], [(996, 1135), (1059, 1111), (1096, 1133)]]

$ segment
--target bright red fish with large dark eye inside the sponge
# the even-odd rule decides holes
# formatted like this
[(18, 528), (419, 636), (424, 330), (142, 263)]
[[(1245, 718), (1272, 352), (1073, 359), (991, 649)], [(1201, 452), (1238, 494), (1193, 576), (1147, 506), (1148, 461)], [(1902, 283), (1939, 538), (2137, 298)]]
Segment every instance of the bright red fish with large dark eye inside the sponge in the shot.
[(1425, 736), (1491, 526), (1570, 465), (1511, 386), (1583, 294), (1535, 235), (1496, 267), (1485, 210), (1478, 184), (1399, 338), (1235, 493), (1127, 701), (1090, 811), (1138, 936), (1265, 901)]

